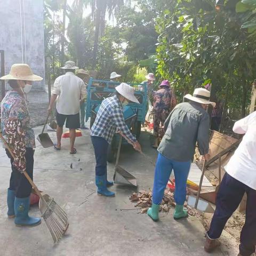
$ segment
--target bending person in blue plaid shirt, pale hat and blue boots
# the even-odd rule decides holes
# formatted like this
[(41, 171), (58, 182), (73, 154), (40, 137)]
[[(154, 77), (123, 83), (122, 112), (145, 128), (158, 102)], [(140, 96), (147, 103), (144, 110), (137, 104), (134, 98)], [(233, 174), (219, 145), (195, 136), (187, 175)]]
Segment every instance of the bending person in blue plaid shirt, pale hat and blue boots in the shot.
[(116, 94), (102, 101), (100, 109), (91, 129), (91, 140), (96, 158), (95, 182), (98, 187), (98, 195), (114, 196), (107, 186), (113, 182), (107, 181), (107, 151), (116, 130), (121, 131), (133, 143), (135, 150), (141, 150), (139, 142), (133, 137), (127, 127), (123, 116), (123, 107), (129, 101), (139, 103), (134, 95), (134, 88), (121, 83), (116, 86)]

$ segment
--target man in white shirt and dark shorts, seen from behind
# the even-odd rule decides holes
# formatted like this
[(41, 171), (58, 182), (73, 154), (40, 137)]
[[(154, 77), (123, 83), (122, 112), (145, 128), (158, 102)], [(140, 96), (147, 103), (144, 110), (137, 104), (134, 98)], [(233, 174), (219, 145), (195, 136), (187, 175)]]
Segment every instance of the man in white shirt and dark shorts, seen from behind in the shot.
[(61, 149), (61, 136), (63, 133), (63, 125), (69, 128), (70, 154), (76, 154), (74, 143), (76, 139), (76, 129), (80, 127), (80, 102), (86, 98), (86, 87), (83, 80), (75, 75), (74, 61), (67, 61), (65, 67), (65, 75), (55, 79), (52, 97), (48, 111), (52, 110), (54, 101), (57, 99), (56, 119), (57, 119), (57, 144), (54, 145), (56, 150)]

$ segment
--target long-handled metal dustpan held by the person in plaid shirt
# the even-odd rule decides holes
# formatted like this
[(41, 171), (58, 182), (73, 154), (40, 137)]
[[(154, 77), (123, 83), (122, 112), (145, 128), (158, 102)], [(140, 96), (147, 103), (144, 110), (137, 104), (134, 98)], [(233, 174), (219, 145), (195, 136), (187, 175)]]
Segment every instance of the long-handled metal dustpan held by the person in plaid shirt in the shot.
[(136, 178), (131, 173), (125, 171), (121, 166), (118, 165), (121, 145), (122, 145), (122, 136), (120, 135), (118, 149), (117, 149), (117, 156), (116, 156), (115, 173), (113, 178), (114, 183), (137, 187)]

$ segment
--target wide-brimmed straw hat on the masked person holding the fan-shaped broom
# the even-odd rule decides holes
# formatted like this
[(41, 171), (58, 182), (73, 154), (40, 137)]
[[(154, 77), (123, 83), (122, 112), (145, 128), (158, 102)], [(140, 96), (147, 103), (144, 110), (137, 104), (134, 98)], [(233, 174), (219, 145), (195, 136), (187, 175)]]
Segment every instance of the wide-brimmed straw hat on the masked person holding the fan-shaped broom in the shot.
[(34, 75), (27, 64), (13, 64), (10, 73), (2, 76), (1, 80), (23, 80), (23, 81), (41, 81), (41, 76)]

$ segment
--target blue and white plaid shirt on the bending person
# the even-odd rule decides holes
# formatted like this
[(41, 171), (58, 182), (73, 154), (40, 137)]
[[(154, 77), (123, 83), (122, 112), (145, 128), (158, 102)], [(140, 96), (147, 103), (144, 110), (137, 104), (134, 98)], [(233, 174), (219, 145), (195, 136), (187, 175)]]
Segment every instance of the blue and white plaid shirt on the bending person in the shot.
[(110, 144), (116, 130), (121, 131), (131, 141), (136, 141), (124, 122), (123, 106), (118, 97), (114, 95), (102, 101), (91, 128), (91, 136), (102, 137)]

